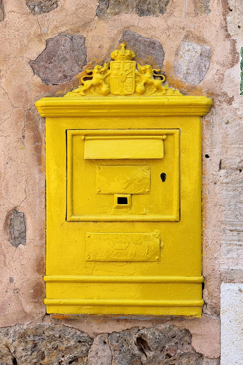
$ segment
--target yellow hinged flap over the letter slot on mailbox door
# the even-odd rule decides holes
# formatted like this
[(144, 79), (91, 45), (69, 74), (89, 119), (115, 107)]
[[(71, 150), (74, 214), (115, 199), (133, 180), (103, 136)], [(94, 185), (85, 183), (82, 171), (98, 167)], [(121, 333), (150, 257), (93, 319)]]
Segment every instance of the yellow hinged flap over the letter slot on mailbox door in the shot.
[(163, 135), (85, 136), (85, 159), (163, 158)]

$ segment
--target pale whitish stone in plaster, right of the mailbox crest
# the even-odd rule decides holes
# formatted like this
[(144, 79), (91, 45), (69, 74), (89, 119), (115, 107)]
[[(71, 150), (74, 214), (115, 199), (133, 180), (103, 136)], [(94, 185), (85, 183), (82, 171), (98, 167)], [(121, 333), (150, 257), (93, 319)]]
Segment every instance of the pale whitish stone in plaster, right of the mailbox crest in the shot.
[(210, 47), (182, 42), (177, 55), (176, 73), (192, 85), (199, 84), (209, 68)]

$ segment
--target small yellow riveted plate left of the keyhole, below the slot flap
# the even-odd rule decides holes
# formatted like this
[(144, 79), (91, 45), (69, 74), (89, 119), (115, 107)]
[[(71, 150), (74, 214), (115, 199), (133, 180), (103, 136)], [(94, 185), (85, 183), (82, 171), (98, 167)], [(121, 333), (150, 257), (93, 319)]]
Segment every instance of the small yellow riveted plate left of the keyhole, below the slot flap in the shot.
[(149, 193), (150, 166), (98, 165), (96, 190), (99, 194)]

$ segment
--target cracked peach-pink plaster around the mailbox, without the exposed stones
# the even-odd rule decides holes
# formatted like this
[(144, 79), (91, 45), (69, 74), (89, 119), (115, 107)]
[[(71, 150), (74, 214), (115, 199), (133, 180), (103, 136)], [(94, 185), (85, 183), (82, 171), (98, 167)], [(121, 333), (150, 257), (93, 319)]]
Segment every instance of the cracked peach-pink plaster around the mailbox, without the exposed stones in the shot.
[[(192, 346), (203, 354), (203, 364), (217, 365), (220, 283), (243, 282), (243, 99), (239, 96), (239, 50), (243, 45), (241, 1), (228, 0), (227, 4), (225, 0), (171, 0), (166, 4), (164, 14), (140, 16), (128, 7), (128, 11), (119, 8), (116, 14), (103, 18), (97, 16), (98, 1), (59, 0), (57, 7), (52, 8), (49, 4), (50, 10), (45, 8), (44, 12), (37, 8), (34, 11), (27, 3), (31, 2), (3, 0), (4, 19), (0, 13), (0, 267), (3, 270), (0, 327), (16, 323), (60, 323), (95, 337), (136, 326), (150, 328), (154, 324), (176, 324), (189, 329)], [(115, 4), (114, 1), (110, 3)], [(137, 4), (140, 3), (137, 1)], [(201, 318), (64, 318), (45, 314), (42, 280), (45, 271), (45, 135), (44, 120), (34, 103), (43, 96), (63, 95), (76, 87), (84, 70), (80, 70), (78, 76), (71, 74), (54, 85), (56, 82), (45, 83), (44, 78), (42, 81), (34, 74), (30, 62), (46, 49), (47, 39), (75, 35), (84, 37), (87, 62), (94, 65), (107, 60), (110, 50), (128, 31), (161, 45), (159, 57), (153, 54), (153, 47), (148, 42), (144, 55), (139, 55), (141, 63), (152, 59), (161, 66), (162, 62), (162, 71), (172, 87), (187, 95), (213, 98), (213, 107), (203, 118), (205, 305)], [(185, 42), (210, 47), (211, 58), (202, 80), (201, 76), (198, 78), (197, 68), (193, 68), (194, 78), (193, 75), (185, 76), (188, 75), (186, 70), (179, 74), (176, 71), (178, 50)], [(11, 245), (9, 233), (14, 209), (23, 212), (26, 224), (26, 245), (18, 247)], [(98, 343), (98, 339), (96, 341)]]

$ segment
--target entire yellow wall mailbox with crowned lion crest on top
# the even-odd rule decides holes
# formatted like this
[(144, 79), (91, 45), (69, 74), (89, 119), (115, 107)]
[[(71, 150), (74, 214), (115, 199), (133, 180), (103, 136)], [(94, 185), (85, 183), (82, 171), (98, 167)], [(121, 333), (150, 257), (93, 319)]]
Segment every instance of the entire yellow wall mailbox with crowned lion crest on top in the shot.
[(48, 313), (200, 315), (201, 116), (121, 45), (46, 117)]

